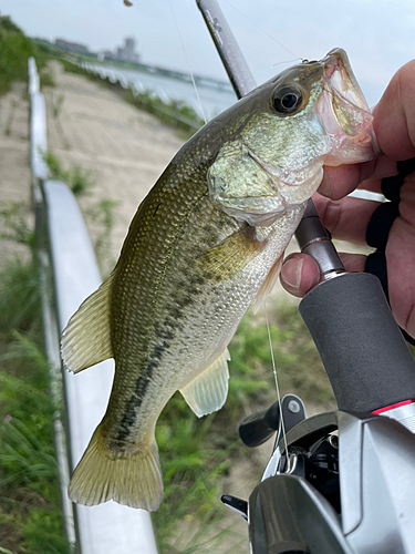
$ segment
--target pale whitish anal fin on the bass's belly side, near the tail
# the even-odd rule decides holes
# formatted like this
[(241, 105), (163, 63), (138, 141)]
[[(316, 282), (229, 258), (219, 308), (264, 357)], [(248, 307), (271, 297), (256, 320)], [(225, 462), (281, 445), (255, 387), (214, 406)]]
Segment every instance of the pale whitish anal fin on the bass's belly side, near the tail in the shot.
[(228, 394), (228, 360), (226, 349), (210, 366), (196, 379), (180, 389), (186, 402), (198, 418), (219, 410)]

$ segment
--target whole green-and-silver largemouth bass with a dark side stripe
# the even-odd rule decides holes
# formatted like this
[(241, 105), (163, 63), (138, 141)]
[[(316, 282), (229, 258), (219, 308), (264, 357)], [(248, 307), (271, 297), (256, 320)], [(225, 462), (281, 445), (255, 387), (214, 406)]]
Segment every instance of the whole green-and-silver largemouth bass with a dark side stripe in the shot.
[(323, 166), (377, 155), (341, 49), (270, 79), (181, 147), (139, 205), (114, 270), (62, 335), (70, 371), (115, 360), (73, 502), (157, 510), (164, 406), (177, 390), (198, 417), (224, 406), (229, 341), (272, 289)]

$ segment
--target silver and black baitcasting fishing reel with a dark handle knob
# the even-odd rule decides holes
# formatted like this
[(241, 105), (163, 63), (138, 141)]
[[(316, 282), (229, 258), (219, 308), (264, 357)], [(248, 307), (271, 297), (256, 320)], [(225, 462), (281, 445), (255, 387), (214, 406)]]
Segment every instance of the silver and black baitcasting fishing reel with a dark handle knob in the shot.
[(251, 553), (415, 553), (415, 440), (400, 423), (413, 424), (414, 406), (305, 419), (302, 401), (288, 394), (245, 420), (248, 447), (277, 431), (249, 501), (221, 499), (248, 521)]

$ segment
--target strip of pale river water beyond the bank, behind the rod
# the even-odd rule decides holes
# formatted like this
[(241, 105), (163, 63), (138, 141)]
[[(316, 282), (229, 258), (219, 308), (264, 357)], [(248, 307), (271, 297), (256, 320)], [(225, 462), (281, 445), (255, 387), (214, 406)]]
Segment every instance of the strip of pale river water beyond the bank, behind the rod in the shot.
[[(197, 102), (197, 96), (191, 82), (170, 79), (164, 75), (155, 75), (152, 73), (142, 73), (141, 71), (126, 70), (114, 65), (94, 65), (96, 69), (111, 71), (116, 78), (124, 78), (128, 83), (135, 84), (138, 90), (155, 91), (162, 100), (167, 98), (184, 100), (190, 104), (197, 113), (203, 116), (200, 106)], [(219, 89), (214, 86), (198, 85), (198, 93), (204, 112), (208, 120), (214, 117), (219, 112), (226, 110), (236, 102), (235, 93), (231, 89)]]

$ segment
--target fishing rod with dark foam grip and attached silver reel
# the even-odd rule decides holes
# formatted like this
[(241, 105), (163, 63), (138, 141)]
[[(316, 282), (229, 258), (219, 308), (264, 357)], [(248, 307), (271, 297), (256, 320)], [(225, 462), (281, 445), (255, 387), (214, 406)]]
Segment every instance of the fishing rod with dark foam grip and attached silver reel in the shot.
[[(196, 2), (239, 99), (252, 74), (217, 1)], [(248, 418), (243, 442), (277, 431), (276, 447), (249, 501), (222, 501), (248, 521), (253, 554), (414, 554), (414, 358), (380, 280), (345, 271), (311, 201), (295, 237), (320, 267), (300, 314), (339, 410), (305, 419), (288, 394)]]

